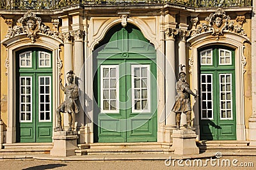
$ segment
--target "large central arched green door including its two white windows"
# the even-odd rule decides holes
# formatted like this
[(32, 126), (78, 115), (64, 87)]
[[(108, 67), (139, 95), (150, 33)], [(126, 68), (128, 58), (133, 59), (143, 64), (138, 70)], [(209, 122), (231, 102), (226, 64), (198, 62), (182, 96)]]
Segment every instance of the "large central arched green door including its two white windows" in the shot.
[[(106, 43), (106, 45), (104, 45)], [(157, 139), (156, 50), (133, 25), (116, 25), (96, 50), (97, 141)]]

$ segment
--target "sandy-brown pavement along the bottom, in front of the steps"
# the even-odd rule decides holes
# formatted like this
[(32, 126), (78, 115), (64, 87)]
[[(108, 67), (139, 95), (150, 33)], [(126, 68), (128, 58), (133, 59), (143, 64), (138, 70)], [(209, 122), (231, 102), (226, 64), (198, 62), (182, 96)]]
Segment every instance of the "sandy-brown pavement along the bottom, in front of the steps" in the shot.
[[(179, 162), (179, 163), (178, 163)], [(228, 166), (230, 162), (230, 166)], [(166, 166), (165, 164), (170, 164)], [(180, 166), (179, 166), (180, 164)], [(189, 166), (191, 164), (191, 166)], [(195, 166), (194, 166), (195, 165)], [(199, 165), (199, 166), (198, 166)], [(207, 166), (206, 166), (207, 165)], [(221, 166), (223, 165), (223, 166)], [(183, 166), (183, 167), (182, 167)], [(248, 167), (250, 166), (250, 167)], [(0, 160), (0, 169), (256, 169), (255, 156), (232, 156), (206, 160), (122, 160), (122, 161), (50, 161), (50, 160)]]

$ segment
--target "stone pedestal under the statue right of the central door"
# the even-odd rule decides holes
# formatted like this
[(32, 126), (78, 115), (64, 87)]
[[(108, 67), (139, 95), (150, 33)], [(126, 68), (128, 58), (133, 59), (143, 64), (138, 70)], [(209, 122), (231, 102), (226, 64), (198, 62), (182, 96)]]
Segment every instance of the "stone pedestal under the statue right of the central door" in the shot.
[(174, 154), (199, 154), (199, 148), (196, 146), (196, 133), (191, 129), (174, 130), (172, 138)]

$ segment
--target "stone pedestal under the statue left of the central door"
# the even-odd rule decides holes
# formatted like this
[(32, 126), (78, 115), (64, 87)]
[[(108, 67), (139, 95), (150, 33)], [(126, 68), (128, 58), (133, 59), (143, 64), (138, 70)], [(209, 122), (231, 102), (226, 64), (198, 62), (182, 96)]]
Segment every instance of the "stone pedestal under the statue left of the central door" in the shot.
[(68, 157), (76, 155), (77, 149), (76, 131), (58, 131), (53, 133), (53, 148), (50, 155)]

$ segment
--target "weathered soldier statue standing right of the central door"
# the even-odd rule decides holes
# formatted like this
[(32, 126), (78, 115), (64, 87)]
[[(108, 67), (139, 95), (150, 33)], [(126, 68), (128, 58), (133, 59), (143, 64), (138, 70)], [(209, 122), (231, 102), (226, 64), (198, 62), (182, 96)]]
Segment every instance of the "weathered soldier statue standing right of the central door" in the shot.
[(186, 82), (186, 73), (183, 71), (183, 67), (185, 66), (180, 64), (179, 81), (176, 83), (177, 95), (175, 96), (175, 104), (172, 108), (172, 111), (176, 113), (177, 130), (180, 129), (180, 115), (182, 112), (185, 113), (187, 117), (187, 129), (192, 129), (189, 94), (198, 97), (191, 89), (189, 89), (189, 84)]

